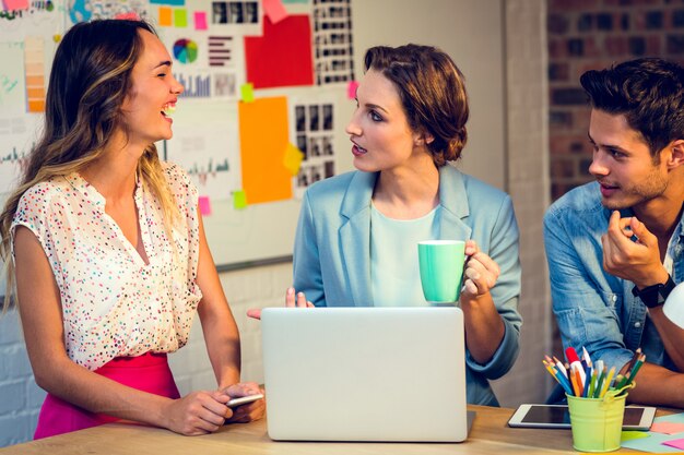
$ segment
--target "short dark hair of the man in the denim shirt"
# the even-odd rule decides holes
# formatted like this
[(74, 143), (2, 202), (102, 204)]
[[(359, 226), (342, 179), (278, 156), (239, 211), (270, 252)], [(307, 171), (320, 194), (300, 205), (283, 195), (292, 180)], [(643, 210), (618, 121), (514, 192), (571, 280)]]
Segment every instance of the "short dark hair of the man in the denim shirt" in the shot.
[(625, 116), (656, 163), (669, 143), (684, 139), (684, 68), (680, 64), (658, 58), (630, 60), (587, 71), (579, 82), (594, 109)]

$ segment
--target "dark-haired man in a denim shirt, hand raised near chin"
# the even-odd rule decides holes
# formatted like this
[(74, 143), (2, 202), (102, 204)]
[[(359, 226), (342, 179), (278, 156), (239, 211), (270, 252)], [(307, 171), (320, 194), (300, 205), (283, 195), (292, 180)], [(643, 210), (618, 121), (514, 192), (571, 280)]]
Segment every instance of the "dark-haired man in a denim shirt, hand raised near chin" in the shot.
[(641, 347), (647, 362), (629, 399), (684, 407), (684, 330), (662, 311), (684, 279), (684, 68), (639, 59), (580, 82), (597, 181), (544, 217), (563, 344), (623, 374)]

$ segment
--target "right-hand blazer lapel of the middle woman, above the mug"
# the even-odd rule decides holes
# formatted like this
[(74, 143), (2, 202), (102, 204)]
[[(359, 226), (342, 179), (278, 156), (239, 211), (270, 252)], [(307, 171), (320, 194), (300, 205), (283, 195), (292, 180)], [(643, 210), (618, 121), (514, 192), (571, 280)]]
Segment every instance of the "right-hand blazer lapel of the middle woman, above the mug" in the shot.
[(465, 224), (470, 206), (463, 175), (451, 165), (439, 168), (439, 239), (470, 240), (472, 228)]

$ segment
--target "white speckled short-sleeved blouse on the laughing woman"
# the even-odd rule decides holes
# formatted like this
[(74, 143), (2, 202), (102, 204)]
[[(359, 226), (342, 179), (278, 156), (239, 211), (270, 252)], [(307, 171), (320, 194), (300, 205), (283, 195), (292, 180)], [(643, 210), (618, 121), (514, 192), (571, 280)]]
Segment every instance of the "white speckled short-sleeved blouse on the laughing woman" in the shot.
[(115, 357), (172, 352), (188, 340), (202, 298), (198, 192), (181, 168), (162, 166), (180, 213), (174, 227), (178, 260), (161, 206), (140, 182), (134, 201), (149, 264), (105, 213), (104, 196), (79, 173), (32, 187), (14, 215), (11, 234), (17, 225), (31, 229), (55, 274), (67, 354), (89, 370)]

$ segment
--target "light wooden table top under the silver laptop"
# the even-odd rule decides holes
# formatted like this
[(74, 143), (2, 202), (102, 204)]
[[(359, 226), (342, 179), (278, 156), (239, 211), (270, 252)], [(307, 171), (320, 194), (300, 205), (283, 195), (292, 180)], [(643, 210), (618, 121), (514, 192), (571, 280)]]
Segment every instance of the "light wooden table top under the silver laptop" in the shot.
[[(168, 430), (109, 423), (59, 436), (0, 448), (0, 454), (40, 455), (349, 455), (349, 454), (512, 454), (571, 453), (570, 430), (509, 428), (514, 409), (468, 406), (475, 419), (468, 440), (439, 443), (274, 442), (266, 421), (226, 426), (203, 436), (181, 436)], [(618, 452), (622, 452), (618, 451)]]

